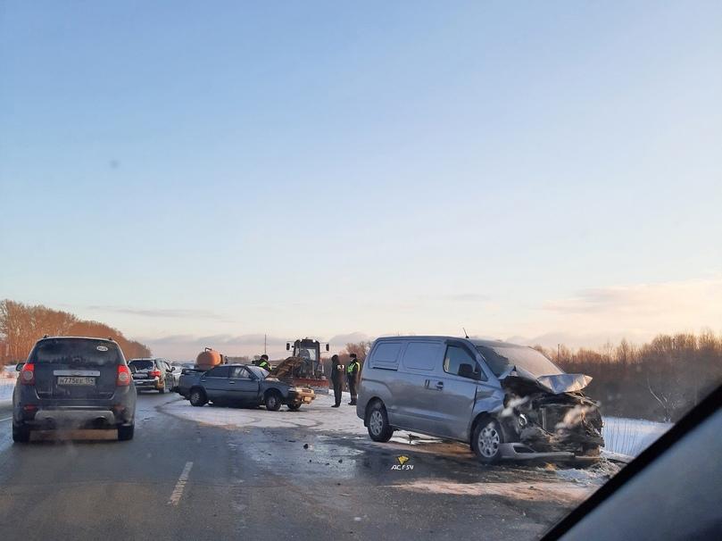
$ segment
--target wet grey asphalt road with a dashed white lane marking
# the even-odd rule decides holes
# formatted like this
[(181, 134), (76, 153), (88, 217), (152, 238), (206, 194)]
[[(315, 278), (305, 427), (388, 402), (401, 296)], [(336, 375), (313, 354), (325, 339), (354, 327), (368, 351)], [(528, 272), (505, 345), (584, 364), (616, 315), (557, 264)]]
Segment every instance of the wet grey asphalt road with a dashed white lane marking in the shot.
[[(539, 468), (316, 429), (209, 426), (163, 411), (177, 400), (139, 396), (129, 442), (79, 431), (13, 445), (0, 410), (0, 538), (518, 540), (575, 505)], [(400, 454), (412, 470), (392, 470)]]

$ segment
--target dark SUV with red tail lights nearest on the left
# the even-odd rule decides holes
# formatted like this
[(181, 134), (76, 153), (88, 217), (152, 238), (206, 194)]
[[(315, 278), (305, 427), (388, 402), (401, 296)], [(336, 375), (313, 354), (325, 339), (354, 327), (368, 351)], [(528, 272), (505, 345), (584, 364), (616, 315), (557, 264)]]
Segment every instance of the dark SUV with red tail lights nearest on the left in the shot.
[(118, 429), (133, 437), (136, 387), (120, 347), (112, 339), (45, 337), (20, 371), (12, 394), (12, 440), (30, 430)]

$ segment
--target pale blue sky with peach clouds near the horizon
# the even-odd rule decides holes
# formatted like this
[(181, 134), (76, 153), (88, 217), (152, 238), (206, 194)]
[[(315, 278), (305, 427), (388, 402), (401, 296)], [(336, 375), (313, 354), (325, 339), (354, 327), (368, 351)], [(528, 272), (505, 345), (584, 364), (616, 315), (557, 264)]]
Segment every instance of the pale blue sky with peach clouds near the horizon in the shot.
[(722, 331), (722, 4), (3, 2), (0, 298), (192, 358)]

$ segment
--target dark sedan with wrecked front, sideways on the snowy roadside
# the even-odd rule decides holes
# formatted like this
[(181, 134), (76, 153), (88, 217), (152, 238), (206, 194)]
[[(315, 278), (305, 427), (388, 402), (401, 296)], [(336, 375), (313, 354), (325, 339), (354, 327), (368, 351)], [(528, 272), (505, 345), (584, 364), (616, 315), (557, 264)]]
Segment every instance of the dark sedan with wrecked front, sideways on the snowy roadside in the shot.
[(282, 404), (298, 410), (316, 398), (313, 389), (296, 387), (251, 364), (221, 364), (211, 370), (183, 370), (178, 393), (192, 405), (213, 404), (257, 406), (278, 411)]

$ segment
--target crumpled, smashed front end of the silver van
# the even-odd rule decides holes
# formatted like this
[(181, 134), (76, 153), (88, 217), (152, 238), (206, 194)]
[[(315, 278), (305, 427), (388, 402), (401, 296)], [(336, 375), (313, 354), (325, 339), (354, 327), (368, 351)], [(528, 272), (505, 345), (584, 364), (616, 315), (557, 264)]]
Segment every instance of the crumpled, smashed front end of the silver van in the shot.
[(504, 374), (502, 458), (596, 460), (604, 446), (602, 414), (581, 393), (591, 380), (584, 374), (536, 377), (517, 367)]

